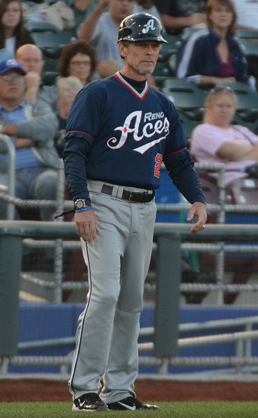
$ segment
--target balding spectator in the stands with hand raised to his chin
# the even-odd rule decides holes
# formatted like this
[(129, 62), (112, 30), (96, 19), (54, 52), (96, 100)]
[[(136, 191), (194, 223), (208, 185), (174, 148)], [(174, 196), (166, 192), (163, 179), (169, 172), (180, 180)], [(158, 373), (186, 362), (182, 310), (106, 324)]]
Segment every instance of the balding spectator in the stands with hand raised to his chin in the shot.
[(41, 79), (45, 62), (40, 48), (31, 43), (22, 45), (17, 49), (16, 59), (26, 71), (24, 77), (25, 98), (27, 100), (35, 100), (36, 98), (44, 100), (56, 111), (56, 87), (44, 86)]

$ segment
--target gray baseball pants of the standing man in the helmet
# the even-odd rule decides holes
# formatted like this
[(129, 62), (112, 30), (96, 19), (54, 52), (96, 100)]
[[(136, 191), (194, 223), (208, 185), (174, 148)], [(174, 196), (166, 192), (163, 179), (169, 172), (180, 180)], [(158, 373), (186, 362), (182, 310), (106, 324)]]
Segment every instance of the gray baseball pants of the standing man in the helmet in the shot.
[(154, 200), (121, 200), (123, 186), (112, 185), (112, 196), (100, 193), (102, 186), (101, 181), (88, 181), (100, 232), (93, 244), (82, 241), (89, 293), (78, 320), (69, 385), (75, 399), (100, 391), (103, 380), (100, 397), (110, 403), (135, 395), (139, 317), (156, 207)]

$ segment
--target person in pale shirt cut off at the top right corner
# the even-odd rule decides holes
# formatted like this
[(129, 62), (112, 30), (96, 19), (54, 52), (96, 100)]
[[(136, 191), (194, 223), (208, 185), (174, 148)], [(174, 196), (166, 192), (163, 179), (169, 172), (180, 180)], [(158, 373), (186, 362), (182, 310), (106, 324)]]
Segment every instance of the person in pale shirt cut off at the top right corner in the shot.
[(233, 0), (237, 20), (236, 29), (258, 31), (258, 0)]

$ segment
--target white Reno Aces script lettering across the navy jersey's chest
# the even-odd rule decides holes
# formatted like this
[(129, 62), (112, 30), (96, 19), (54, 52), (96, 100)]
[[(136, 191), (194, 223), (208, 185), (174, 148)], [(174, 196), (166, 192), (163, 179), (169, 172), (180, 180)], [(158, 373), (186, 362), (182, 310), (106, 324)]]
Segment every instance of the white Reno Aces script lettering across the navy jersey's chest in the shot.
[[(160, 120), (160, 118), (164, 118), (163, 112), (158, 113), (151, 113), (147, 112), (144, 114), (144, 126), (140, 130), (139, 126), (142, 121), (142, 110), (136, 110), (128, 114), (128, 117), (124, 121), (123, 126), (117, 126), (114, 130), (120, 130), (121, 136), (120, 138), (112, 137), (107, 140), (107, 146), (111, 149), (119, 149), (123, 147), (123, 145), (128, 140), (128, 134), (133, 134), (133, 139), (136, 142), (142, 141), (144, 138), (151, 138), (155, 135), (155, 140), (151, 140), (147, 144), (140, 145), (133, 149), (133, 151), (139, 152), (139, 154), (144, 154), (148, 149), (151, 149), (158, 144), (162, 140), (165, 140), (167, 135), (169, 134), (169, 121), (165, 117), (165, 119)], [(157, 120), (158, 119), (158, 120)], [(157, 134), (160, 135), (157, 139)]]

